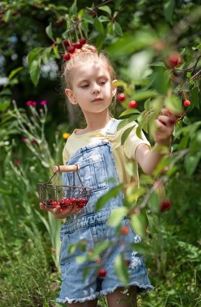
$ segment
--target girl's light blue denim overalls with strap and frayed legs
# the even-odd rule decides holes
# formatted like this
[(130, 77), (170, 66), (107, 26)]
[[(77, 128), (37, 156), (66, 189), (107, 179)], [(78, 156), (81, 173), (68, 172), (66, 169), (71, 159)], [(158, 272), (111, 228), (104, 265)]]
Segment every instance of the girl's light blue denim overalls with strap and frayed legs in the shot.
[[(122, 192), (120, 191), (116, 197), (109, 199), (106, 205), (98, 212), (95, 212), (95, 204), (100, 196), (116, 185), (115, 180), (108, 179), (113, 178), (118, 181), (110, 145), (118, 124), (119, 120), (111, 122), (106, 131), (104, 141), (97, 141), (79, 149), (67, 163), (80, 166), (79, 175), (83, 184), (92, 187), (92, 192), (86, 207), (77, 214), (67, 217), (61, 227), (60, 269), (62, 284), (57, 302), (82, 303), (107, 295), (117, 287), (123, 286), (118, 280), (114, 269), (114, 259), (121, 251), (124, 253), (125, 260), (130, 261), (130, 285), (138, 286), (139, 293), (147, 293), (153, 289), (144, 267), (144, 256), (137, 254), (136, 251), (132, 251), (130, 248), (131, 243), (141, 242), (141, 238), (131, 228), (129, 234), (123, 236), (121, 244), (116, 244), (112, 248), (112, 252), (110, 251), (108, 255), (106, 255), (107, 252), (100, 255), (100, 258), (102, 258), (100, 265), (107, 270), (105, 277), (98, 278), (97, 263), (95, 261), (78, 262), (76, 260), (77, 256), (85, 256), (87, 251), (93, 249), (97, 242), (105, 240), (114, 242), (116, 239), (116, 229), (109, 227), (107, 221), (113, 209), (122, 206)], [(73, 173), (63, 173), (62, 181), (65, 185), (72, 185)], [(79, 181), (75, 182), (75, 184), (80, 185)], [(128, 225), (127, 218), (122, 220), (122, 226), (124, 225)], [(69, 246), (80, 241), (85, 241), (86, 250), (83, 251), (80, 247), (73, 254), (69, 253)], [(85, 278), (83, 277), (84, 274), (86, 275)]]

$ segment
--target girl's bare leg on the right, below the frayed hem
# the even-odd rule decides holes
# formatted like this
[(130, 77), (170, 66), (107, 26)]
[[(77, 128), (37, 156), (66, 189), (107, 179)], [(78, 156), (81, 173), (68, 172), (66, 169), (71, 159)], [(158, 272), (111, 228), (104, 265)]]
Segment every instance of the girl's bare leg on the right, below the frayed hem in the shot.
[(117, 288), (107, 295), (108, 307), (137, 307), (137, 287), (131, 286), (128, 290), (129, 295), (124, 294), (123, 290), (123, 288)]

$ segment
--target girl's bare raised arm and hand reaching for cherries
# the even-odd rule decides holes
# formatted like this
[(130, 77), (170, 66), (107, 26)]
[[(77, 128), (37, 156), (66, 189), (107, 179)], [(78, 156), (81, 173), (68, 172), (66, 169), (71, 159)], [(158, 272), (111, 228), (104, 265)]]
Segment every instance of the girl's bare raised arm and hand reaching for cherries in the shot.
[(174, 129), (174, 118), (172, 118), (172, 114), (169, 112), (169, 110), (165, 109), (163, 114), (159, 115), (155, 120), (155, 123), (157, 129), (154, 135), (154, 147), (156, 149), (150, 151), (145, 144), (140, 144), (135, 153), (136, 160), (140, 164), (144, 173), (148, 175), (153, 173), (161, 158), (164, 156), (164, 151), (162, 152), (160, 150), (160, 146), (167, 147), (167, 152), (169, 151), (172, 140), (172, 132)]

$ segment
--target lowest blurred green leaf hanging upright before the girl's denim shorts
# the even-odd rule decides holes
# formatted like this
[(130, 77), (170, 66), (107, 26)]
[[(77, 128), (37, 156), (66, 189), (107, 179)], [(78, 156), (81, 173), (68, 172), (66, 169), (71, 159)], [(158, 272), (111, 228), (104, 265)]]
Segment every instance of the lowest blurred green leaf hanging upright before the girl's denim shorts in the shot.
[(114, 261), (115, 273), (125, 286), (129, 283), (128, 266), (122, 254), (118, 254)]

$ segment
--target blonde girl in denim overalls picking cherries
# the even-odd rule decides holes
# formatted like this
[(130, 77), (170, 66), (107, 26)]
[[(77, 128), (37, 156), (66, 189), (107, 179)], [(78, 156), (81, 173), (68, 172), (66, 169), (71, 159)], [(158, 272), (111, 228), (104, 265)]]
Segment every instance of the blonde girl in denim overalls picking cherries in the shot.
[[(128, 126), (116, 130), (119, 120), (111, 115), (117, 90), (116, 78), (114, 69), (103, 52), (98, 54), (93, 46), (85, 44), (65, 63), (63, 77), (70, 107), (76, 114), (81, 109), (86, 119), (86, 128), (75, 129), (68, 138), (63, 149), (63, 162), (80, 166), (79, 175), (84, 185), (92, 187), (92, 193), (84, 208), (71, 205), (61, 210), (59, 205), (52, 208), (40, 204), (42, 210), (51, 211), (57, 218), (66, 218), (60, 231), (62, 284), (57, 302), (77, 307), (96, 307), (98, 298), (107, 296), (109, 307), (137, 306), (137, 293), (148, 293), (153, 286), (147, 277), (144, 256), (131, 250), (130, 244), (141, 242), (141, 238), (129, 226), (128, 218), (125, 217), (121, 224), (122, 227), (129, 227), (129, 233), (122, 235), (120, 243), (115, 244), (109, 253), (106, 251), (100, 255), (99, 265), (104, 268), (102, 276), (98, 276), (97, 266), (93, 261), (79, 263), (76, 256), (85, 256), (97, 242), (114, 242), (116, 238), (115, 228), (109, 227), (107, 221), (112, 211), (122, 206), (123, 192), (111, 198), (100, 211), (96, 212), (94, 208), (100, 196), (116, 184), (114, 180), (108, 179), (131, 182), (124, 166), (132, 161), (136, 172), (135, 179), (132, 180), (138, 181), (137, 163), (146, 174), (151, 174), (162, 153), (159, 150), (151, 151), (144, 135), (142, 139), (138, 138), (137, 123), (121, 146), (122, 132)], [(158, 128), (154, 136), (155, 146), (169, 147), (174, 128), (169, 111), (165, 110), (155, 122)], [(72, 184), (72, 176), (72, 173), (63, 173), (63, 184)], [(74, 254), (70, 254), (68, 247), (83, 240), (86, 242), (86, 251), (77, 248)], [(129, 260), (130, 284), (127, 293), (114, 269), (115, 257), (122, 251), (125, 259)], [(89, 270), (84, 278), (86, 268)]]

